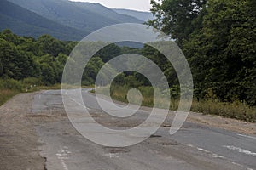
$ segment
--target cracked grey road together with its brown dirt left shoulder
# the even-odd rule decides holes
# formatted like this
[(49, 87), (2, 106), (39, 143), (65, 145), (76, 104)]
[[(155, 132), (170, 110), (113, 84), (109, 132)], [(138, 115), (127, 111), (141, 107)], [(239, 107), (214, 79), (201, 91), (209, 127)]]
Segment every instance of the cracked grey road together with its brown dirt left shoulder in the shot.
[[(83, 99), (96, 122), (113, 129), (135, 127), (148, 116), (145, 110), (122, 121), (105, 114), (88, 89), (83, 89)], [(64, 110), (61, 90), (20, 94), (16, 100), (20, 105), (9, 108), (12, 102), (17, 103), (12, 99), (0, 108), (0, 169), (256, 169), (253, 135), (185, 122), (171, 136), (171, 114), (154, 135), (140, 144), (104, 147), (75, 130)]]

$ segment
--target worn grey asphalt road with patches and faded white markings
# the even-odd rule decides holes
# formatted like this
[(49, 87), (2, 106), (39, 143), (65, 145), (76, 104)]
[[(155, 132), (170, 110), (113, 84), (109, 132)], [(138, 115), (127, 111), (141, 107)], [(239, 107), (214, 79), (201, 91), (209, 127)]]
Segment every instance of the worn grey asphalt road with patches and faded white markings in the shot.
[[(122, 122), (105, 114), (88, 89), (83, 90), (83, 99), (96, 122), (113, 129), (135, 127), (148, 116), (148, 111), (138, 111)], [(71, 99), (70, 105), (79, 104)], [(39, 136), (40, 155), (45, 157), (45, 169), (256, 169), (255, 136), (190, 122), (171, 136), (168, 125), (172, 116), (153, 136), (124, 148), (94, 144), (79, 134), (64, 111), (61, 90), (35, 95), (30, 116)]]

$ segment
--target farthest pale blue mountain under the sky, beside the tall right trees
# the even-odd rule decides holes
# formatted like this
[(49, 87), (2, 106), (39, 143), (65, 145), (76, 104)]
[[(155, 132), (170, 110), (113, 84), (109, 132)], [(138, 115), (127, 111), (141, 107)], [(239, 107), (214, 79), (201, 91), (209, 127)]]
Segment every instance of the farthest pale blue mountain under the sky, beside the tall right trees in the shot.
[(135, 17), (138, 20), (143, 20), (143, 21), (153, 20), (153, 14), (150, 12), (141, 12), (141, 11), (123, 9), (123, 8), (113, 8), (113, 11), (115, 11), (118, 14), (125, 14), (125, 15)]

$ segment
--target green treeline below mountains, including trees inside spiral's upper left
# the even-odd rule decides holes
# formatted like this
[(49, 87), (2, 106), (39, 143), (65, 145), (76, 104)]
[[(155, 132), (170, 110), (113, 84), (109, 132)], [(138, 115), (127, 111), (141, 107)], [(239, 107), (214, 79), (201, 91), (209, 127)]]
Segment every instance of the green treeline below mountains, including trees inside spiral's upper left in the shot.
[[(35, 39), (20, 37), (10, 30), (0, 32), (0, 78), (40, 85), (61, 83), (68, 55), (78, 42), (59, 41), (49, 35)], [(120, 54), (140, 53), (139, 49), (110, 44), (100, 50), (84, 70), (83, 85), (94, 84), (104, 62)], [(5, 87), (5, 86), (4, 86)]]

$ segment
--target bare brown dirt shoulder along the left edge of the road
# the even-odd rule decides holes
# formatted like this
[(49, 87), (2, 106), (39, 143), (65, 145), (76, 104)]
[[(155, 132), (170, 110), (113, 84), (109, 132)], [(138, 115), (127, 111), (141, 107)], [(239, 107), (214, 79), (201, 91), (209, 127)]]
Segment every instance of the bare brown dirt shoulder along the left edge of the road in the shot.
[(26, 114), (35, 93), (18, 94), (0, 107), (0, 169), (44, 169), (38, 136)]

